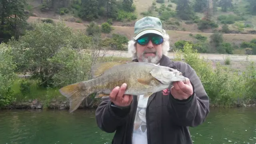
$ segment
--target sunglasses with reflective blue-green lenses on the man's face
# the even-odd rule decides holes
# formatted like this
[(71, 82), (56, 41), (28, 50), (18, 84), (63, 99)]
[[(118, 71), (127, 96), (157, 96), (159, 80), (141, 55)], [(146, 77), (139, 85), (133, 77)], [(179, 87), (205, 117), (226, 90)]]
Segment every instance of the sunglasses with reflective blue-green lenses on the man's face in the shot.
[(151, 42), (153, 44), (157, 44), (157, 45), (162, 44), (164, 42), (163, 37), (162, 36), (158, 36), (158, 35), (142, 36), (142, 37), (138, 38), (138, 40), (136, 40), (136, 42), (138, 42), (138, 44), (140, 44), (140, 45), (145, 45), (145, 44), (148, 44), (149, 40), (151, 40)]

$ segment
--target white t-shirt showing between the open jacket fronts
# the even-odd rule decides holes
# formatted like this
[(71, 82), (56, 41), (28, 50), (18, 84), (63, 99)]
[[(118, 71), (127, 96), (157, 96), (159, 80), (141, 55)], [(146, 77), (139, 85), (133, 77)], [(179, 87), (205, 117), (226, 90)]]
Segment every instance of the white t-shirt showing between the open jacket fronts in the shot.
[(148, 144), (146, 108), (149, 97), (144, 98), (144, 95), (138, 97), (138, 106), (133, 125), (132, 144)]

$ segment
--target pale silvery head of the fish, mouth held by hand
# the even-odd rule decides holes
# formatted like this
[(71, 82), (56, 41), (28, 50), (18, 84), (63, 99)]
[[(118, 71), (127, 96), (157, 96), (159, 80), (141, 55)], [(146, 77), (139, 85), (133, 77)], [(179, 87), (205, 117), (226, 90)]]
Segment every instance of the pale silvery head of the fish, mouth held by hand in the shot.
[(166, 66), (156, 66), (151, 69), (150, 74), (165, 85), (186, 80), (186, 78), (182, 76), (182, 72)]

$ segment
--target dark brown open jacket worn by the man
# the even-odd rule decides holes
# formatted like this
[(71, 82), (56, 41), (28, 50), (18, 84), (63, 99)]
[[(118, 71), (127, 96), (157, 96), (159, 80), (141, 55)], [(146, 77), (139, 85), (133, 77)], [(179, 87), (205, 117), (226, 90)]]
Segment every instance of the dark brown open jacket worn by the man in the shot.
[[(138, 60), (133, 60), (138, 62)], [(185, 62), (171, 61), (167, 56), (161, 66), (175, 68), (190, 79), (194, 93), (188, 100), (176, 100), (169, 90), (152, 94), (146, 109), (148, 144), (192, 144), (188, 127), (202, 124), (209, 113), (209, 98), (194, 69)], [(128, 108), (110, 106), (109, 98), (102, 98), (96, 110), (96, 122), (105, 132), (115, 132), (112, 144), (132, 144), (133, 123), (137, 109), (137, 96)]]

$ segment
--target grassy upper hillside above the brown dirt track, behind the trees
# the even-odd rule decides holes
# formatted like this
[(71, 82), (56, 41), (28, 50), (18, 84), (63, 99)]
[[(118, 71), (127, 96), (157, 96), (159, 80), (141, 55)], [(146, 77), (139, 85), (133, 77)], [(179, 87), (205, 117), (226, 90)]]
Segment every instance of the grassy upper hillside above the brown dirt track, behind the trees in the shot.
[[(46, 5), (42, 3), (42, 1), (43, 0), (28, 0), (28, 10), (30, 10), (30, 12), (32, 12), (34, 16), (51, 19), (58, 19), (60, 16), (63, 20), (66, 21), (80, 22), (84, 24), (88, 23), (88, 21), (83, 20), (78, 16), (78, 8), (76, 8), (78, 7), (77, 4), (75, 5), (72, 3), (68, 3), (66, 4), (66, 7), (61, 7), (59, 6), (61, 3), (57, 3), (57, 0), (55, 4), (55, 7), (57, 8), (52, 8), (50, 10), (42, 10), (42, 7)], [(73, 2), (74, 0), (70, 1)], [(195, 0), (193, 0), (192, 2), (194, 1)], [(182, 20), (181, 18), (176, 16), (176, 0), (165, 0), (163, 4), (157, 3), (156, 0), (133, 0), (133, 4), (136, 7), (136, 9), (134, 12), (132, 12), (132, 14), (135, 14), (137, 19), (140, 19), (143, 16), (160, 17), (162, 19), (164, 28), (167, 30), (212, 33), (216, 30), (221, 30), (222, 26), (226, 24), (229, 29), (229, 31), (226, 33), (256, 33), (256, 16), (248, 14), (248, 12), (245, 9), (246, 4), (248, 3), (242, 0), (233, 0), (232, 8), (228, 8), (226, 12), (223, 12), (220, 6), (216, 6), (215, 12), (211, 10), (209, 13), (212, 15), (210, 17), (211, 21), (217, 24), (218, 26), (210, 26), (208, 28), (200, 30), (198, 29), (198, 21), (204, 18), (207, 12), (206, 10), (202, 12), (194, 12), (196, 17), (194, 18), (194, 20)], [(65, 8), (68, 10), (66, 10)], [(61, 10), (66, 10), (66, 13), (60, 14)], [(192, 11), (196, 10), (192, 9)], [(107, 18), (104, 16), (100, 16), (100, 18), (96, 18), (94, 19), (94, 21), (98, 24), (102, 24), (103, 22), (107, 21)], [(136, 19), (130, 18), (124, 18), (122, 20), (113, 20), (112, 26), (134, 26), (135, 21)]]

